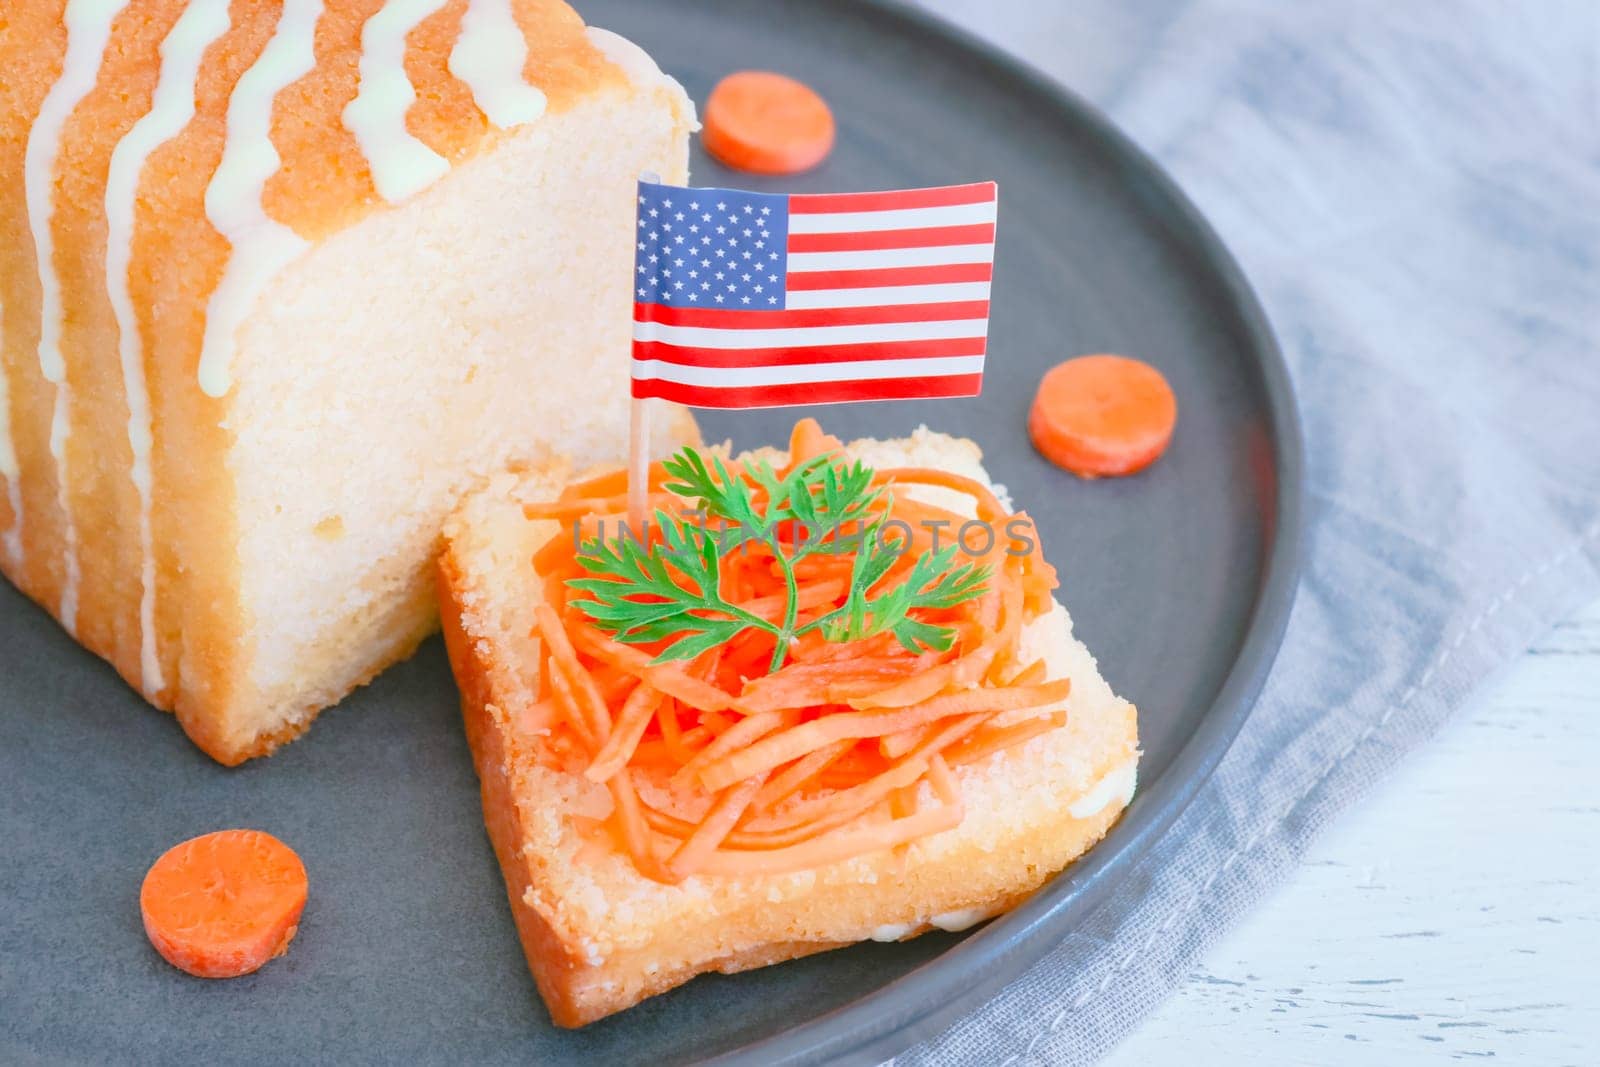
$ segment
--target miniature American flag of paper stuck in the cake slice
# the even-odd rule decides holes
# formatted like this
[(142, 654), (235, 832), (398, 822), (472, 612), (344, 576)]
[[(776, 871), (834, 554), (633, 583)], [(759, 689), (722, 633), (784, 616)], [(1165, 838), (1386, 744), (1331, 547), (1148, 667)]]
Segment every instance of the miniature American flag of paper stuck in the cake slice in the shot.
[(995, 184), (773, 195), (640, 182), (634, 395), (976, 397)]

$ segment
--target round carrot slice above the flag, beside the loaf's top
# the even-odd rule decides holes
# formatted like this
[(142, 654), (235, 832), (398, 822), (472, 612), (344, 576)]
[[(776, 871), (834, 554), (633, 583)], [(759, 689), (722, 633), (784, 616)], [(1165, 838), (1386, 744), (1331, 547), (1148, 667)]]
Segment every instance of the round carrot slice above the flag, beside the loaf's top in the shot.
[(752, 174), (798, 174), (834, 149), (834, 112), (810, 86), (770, 70), (717, 83), (701, 115), (706, 150)]

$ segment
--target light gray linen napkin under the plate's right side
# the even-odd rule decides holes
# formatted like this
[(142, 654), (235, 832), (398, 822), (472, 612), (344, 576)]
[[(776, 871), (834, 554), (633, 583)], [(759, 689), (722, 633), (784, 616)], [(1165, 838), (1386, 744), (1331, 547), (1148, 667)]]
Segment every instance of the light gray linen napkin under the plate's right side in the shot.
[(1090, 921), (901, 1057), (1090, 1062), (1600, 593), (1600, 10), (925, 5), (1088, 96), (1184, 186), (1258, 288), (1306, 421), (1307, 566), (1238, 741)]

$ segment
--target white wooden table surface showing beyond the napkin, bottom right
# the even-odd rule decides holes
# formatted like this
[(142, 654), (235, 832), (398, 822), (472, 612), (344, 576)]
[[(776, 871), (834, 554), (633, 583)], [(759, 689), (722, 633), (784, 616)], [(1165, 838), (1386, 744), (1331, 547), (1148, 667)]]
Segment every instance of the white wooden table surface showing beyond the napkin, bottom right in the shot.
[(1107, 1064), (1600, 1062), (1600, 601), (1344, 813)]

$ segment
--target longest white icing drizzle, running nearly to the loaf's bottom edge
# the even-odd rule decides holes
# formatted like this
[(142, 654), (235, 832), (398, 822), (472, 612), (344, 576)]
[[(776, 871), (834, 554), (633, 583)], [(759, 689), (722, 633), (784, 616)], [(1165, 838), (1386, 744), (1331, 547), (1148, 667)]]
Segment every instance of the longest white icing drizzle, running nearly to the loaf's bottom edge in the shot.
[(106, 291), (117, 317), (117, 352), (128, 397), (128, 445), (133, 450), (133, 488), (139, 496), (139, 665), (146, 694), (162, 689), (162, 659), (155, 641), (155, 549), (150, 533), (150, 389), (144, 374), (139, 320), (128, 291), (133, 259), (133, 222), (139, 174), (160, 146), (182, 133), (195, 114), (195, 82), (206, 48), (227, 32), (226, 3), (190, 3), (162, 42), (162, 69), (150, 110), (117, 142), (106, 176)]

